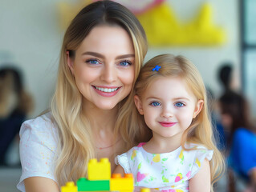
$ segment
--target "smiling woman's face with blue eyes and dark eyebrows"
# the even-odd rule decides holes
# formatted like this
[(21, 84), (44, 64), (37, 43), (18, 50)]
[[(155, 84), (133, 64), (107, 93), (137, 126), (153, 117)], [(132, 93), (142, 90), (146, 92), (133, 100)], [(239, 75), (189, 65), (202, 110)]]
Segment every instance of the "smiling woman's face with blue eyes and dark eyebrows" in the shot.
[(120, 26), (95, 26), (67, 62), (84, 106), (110, 110), (132, 90), (135, 53)]

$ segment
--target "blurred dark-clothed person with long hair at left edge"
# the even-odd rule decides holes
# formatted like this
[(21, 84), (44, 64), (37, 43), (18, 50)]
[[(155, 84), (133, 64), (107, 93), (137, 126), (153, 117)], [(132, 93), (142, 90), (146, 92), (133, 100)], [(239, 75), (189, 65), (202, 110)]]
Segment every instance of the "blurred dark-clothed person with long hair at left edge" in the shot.
[(0, 164), (8, 165), (7, 151), (18, 138), (20, 126), (32, 110), (33, 101), (23, 87), (21, 72), (13, 67), (0, 69), (0, 90)]

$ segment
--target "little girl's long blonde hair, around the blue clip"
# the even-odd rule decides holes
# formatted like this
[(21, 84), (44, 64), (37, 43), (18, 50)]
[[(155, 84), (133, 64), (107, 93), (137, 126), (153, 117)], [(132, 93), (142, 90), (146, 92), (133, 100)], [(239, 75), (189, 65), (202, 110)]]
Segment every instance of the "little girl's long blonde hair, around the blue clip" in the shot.
[[(156, 65), (161, 69), (152, 70)], [(221, 152), (217, 149), (213, 134), (213, 126), (210, 121), (210, 114), (207, 105), (207, 97), (204, 82), (197, 67), (193, 65), (187, 58), (182, 56), (173, 56), (172, 54), (162, 54), (149, 60), (137, 79), (135, 90), (136, 94), (141, 98), (144, 97), (145, 90), (150, 84), (160, 77), (180, 77), (185, 80), (188, 88), (196, 96), (197, 100), (203, 100), (204, 105), (201, 112), (193, 119), (193, 122), (183, 134), (181, 146), (185, 149), (185, 142), (193, 142), (205, 146), (209, 150), (213, 150), (213, 158), (209, 162), (211, 170), (212, 190), (213, 183), (223, 174), (225, 167), (224, 159)], [(142, 120), (142, 116), (137, 112), (138, 118)], [(189, 150), (189, 149), (185, 149)], [(192, 149), (193, 150), (193, 149)]]

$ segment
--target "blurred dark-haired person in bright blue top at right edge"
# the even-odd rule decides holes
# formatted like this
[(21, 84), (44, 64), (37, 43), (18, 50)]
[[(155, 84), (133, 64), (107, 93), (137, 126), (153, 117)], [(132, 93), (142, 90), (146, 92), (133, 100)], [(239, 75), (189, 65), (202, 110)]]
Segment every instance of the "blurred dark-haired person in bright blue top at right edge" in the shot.
[(226, 91), (219, 98), (219, 106), (221, 123), (229, 131), (227, 156), (230, 169), (249, 183), (244, 191), (256, 191), (256, 127), (251, 122), (249, 103), (242, 94)]

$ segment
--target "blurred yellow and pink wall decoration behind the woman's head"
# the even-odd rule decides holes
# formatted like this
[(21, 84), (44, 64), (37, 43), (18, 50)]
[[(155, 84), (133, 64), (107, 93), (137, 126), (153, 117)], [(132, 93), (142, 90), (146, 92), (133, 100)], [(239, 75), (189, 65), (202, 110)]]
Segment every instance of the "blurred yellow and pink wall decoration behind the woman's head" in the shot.
[[(213, 7), (209, 2), (201, 6), (193, 19), (181, 22), (165, 0), (140, 0), (139, 4), (133, 0), (114, 1), (136, 14), (150, 46), (221, 46), (226, 42), (226, 31), (213, 23)], [(61, 27), (67, 27), (71, 18), (90, 2), (95, 1), (82, 0), (76, 5), (60, 3)]]

